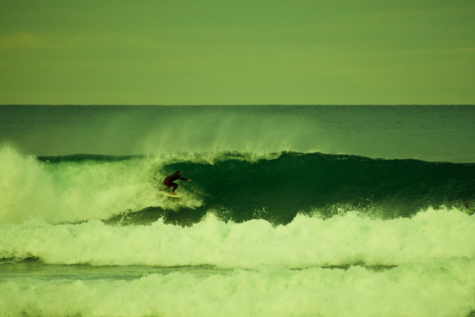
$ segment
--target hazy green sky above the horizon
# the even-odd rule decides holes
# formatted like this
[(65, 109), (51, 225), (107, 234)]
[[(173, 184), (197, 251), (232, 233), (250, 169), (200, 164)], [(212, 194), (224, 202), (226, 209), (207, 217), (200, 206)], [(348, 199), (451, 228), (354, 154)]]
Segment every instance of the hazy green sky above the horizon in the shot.
[(475, 104), (475, 1), (2, 0), (0, 87), (0, 104)]

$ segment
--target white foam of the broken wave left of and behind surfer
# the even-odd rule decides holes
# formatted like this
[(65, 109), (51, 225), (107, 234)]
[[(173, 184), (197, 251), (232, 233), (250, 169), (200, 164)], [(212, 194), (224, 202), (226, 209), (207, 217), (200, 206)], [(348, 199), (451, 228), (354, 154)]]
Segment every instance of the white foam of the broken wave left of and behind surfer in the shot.
[(156, 157), (50, 164), (4, 146), (0, 148), (0, 223), (21, 223), (31, 217), (50, 223), (74, 222), (107, 219), (150, 206), (199, 206), (201, 201), (192, 194), (171, 203), (158, 193), (151, 177), (164, 177), (163, 162)]

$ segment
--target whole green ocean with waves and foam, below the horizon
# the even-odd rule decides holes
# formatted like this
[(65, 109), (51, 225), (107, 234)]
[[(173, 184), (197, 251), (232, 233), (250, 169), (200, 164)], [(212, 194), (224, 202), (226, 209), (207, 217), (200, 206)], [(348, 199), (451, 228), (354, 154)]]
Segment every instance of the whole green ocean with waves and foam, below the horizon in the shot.
[(475, 106), (0, 106), (0, 316), (473, 317), (474, 208)]

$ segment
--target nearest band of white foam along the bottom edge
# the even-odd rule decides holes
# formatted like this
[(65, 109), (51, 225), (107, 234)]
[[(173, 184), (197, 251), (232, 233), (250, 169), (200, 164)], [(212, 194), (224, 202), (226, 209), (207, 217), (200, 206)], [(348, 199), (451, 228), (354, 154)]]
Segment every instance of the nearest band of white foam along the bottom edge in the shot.
[(0, 316), (468, 316), (475, 260), (363, 267), (267, 268), (126, 280), (0, 281)]

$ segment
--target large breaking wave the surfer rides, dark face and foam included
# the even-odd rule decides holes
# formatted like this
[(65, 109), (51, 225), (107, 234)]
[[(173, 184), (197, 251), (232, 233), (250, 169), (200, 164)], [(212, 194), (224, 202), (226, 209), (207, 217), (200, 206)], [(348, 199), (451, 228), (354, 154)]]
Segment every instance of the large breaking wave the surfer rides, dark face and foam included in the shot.
[[(295, 152), (34, 157), (10, 147), (0, 149), (0, 162), (0, 223), (147, 224), (164, 216), (190, 224), (211, 211), (226, 221), (278, 225), (297, 213), (393, 219), (475, 200), (474, 163)], [(179, 183), (178, 200), (160, 193), (176, 170), (193, 180)]]

